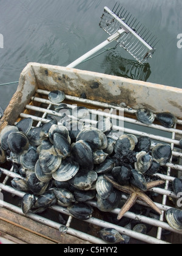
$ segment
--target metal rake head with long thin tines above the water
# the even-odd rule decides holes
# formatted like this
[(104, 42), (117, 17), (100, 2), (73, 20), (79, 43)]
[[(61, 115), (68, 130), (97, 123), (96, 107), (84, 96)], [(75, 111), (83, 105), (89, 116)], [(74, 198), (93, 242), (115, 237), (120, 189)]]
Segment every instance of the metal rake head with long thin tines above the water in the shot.
[(113, 10), (104, 7), (99, 26), (109, 35), (124, 29), (116, 41), (140, 63), (146, 62), (155, 52), (157, 38), (120, 4), (116, 3)]

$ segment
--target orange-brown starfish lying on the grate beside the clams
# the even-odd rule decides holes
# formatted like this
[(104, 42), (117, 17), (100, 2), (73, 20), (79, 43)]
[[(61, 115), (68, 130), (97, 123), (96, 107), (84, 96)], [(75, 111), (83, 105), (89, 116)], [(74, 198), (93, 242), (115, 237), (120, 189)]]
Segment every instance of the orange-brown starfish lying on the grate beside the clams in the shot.
[[(121, 208), (120, 213), (118, 214), (118, 220), (123, 218), (124, 214), (130, 210), (130, 208), (135, 204), (136, 200), (139, 199), (143, 202), (145, 202), (149, 207), (151, 207), (153, 210), (155, 210), (160, 215), (162, 214), (161, 210), (157, 207), (157, 205), (154, 204), (154, 202), (146, 195), (140, 188), (136, 188), (133, 185), (130, 186), (121, 186), (117, 182), (113, 181), (107, 176), (104, 176), (110, 183), (112, 183), (113, 187), (115, 187), (117, 190), (120, 190), (124, 193), (130, 194), (129, 199), (127, 199), (126, 204)], [(147, 190), (153, 187), (157, 187), (158, 185), (164, 184), (164, 180), (156, 180), (153, 182), (147, 183)]]

